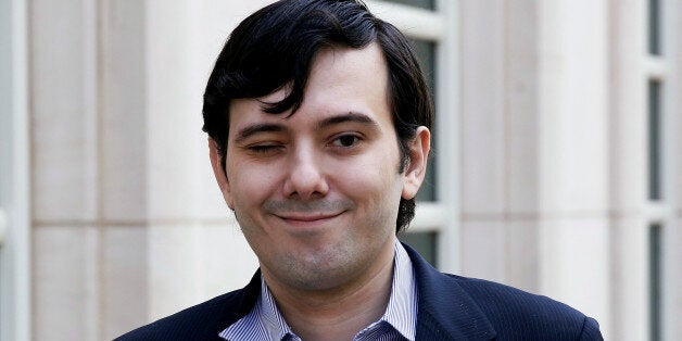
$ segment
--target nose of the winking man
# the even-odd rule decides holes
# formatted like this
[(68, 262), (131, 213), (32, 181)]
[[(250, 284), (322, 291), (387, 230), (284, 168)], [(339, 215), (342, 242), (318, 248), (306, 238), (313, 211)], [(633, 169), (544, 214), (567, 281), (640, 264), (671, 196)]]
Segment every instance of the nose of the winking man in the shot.
[(283, 188), (287, 198), (314, 200), (325, 197), (329, 191), (320, 156), (310, 146), (294, 149), (287, 171)]

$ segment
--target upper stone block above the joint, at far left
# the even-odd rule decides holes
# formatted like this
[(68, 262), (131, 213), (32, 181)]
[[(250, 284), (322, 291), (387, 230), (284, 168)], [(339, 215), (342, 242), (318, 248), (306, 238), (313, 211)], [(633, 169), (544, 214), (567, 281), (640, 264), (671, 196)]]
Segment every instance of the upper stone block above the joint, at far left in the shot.
[(97, 188), (91, 70), (83, 1), (31, 3), (29, 106), (34, 217), (91, 219)]

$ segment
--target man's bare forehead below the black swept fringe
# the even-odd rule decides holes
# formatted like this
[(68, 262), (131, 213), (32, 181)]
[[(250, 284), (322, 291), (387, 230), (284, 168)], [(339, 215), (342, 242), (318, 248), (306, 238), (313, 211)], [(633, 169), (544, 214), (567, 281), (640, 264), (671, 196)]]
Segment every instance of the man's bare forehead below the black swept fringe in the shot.
[[(305, 112), (306, 121), (315, 124), (330, 116), (355, 113), (370, 121), (382, 121), (389, 115), (388, 67), (377, 43), (362, 49), (348, 47), (325, 48), (316, 54), (311, 66), (301, 106), (292, 113), (267, 113), (266, 109), (285, 100), (291, 91), (289, 84), (260, 98), (233, 99), (229, 104), (230, 134), (238, 126), (281, 124)], [(386, 113), (384, 113), (386, 112)], [(391, 117), (387, 117), (392, 122)]]

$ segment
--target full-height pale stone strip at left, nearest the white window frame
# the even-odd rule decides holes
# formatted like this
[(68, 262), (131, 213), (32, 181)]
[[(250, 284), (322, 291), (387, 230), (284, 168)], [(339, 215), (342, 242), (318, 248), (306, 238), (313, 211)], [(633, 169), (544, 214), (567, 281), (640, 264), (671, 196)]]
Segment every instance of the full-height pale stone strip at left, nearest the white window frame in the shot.
[(97, 5), (33, 0), (28, 11), (33, 336), (101, 339)]

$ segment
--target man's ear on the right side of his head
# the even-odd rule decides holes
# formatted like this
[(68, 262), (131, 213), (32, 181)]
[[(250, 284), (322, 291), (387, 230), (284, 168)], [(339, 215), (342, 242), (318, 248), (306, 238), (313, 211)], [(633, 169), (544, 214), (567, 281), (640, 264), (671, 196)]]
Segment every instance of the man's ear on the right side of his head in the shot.
[(409, 200), (417, 195), (417, 191), (426, 176), (427, 161), (431, 150), (431, 132), (429, 128), (420, 126), (417, 134), (408, 143), (409, 164), (403, 174), (403, 199)]

